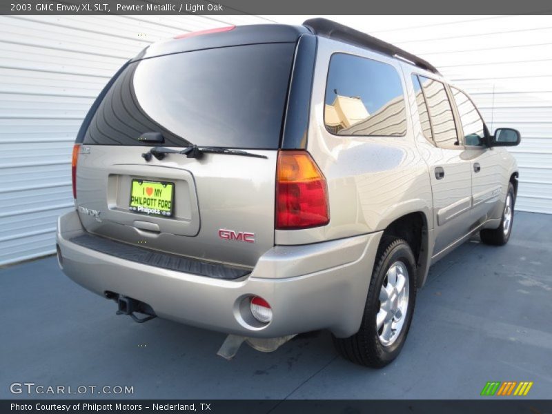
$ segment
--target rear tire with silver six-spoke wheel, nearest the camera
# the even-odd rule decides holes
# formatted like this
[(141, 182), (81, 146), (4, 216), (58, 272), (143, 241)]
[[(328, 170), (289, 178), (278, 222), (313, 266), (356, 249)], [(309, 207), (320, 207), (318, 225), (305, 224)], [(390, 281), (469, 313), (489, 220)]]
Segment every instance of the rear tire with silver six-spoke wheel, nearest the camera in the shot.
[(377, 250), (359, 331), (348, 338), (333, 337), (343, 357), (355, 364), (382, 368), (399, 355), (412, 322), (416, 272), (408, 243), (384, 236)]

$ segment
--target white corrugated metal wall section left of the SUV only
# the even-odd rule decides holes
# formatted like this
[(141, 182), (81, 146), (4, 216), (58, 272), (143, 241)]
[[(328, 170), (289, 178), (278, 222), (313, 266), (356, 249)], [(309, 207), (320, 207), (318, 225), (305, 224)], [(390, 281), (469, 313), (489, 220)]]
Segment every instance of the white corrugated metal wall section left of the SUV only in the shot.
[(0, 265), (55, 252), (88, 108), (148, 43), (259, 17), (0, 17)]

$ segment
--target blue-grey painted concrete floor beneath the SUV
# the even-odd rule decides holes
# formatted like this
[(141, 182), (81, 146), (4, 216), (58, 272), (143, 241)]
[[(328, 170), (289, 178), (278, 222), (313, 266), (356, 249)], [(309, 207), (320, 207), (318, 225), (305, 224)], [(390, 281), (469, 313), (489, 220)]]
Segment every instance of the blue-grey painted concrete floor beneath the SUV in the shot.
[(469, 399), (487, 381), (533, 381), (529, 397), (549, 398), (552, 216), (517, 213), (507, 246), (473, 239), (435, 264), (402, 354), (378, 371), (337, 356), (326, 332), (226, 362), (223, 334), (116, 316), (55, 257), (0, 270), (0, 317), (0, 398), (34, 382), (134, 386), (133, 398)]

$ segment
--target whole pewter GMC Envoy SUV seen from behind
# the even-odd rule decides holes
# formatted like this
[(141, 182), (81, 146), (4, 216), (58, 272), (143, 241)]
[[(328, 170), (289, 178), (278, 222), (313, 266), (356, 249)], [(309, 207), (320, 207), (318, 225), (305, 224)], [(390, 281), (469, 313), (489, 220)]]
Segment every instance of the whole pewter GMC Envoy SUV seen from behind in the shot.
[(427, 61), (325, 19), (155, 43), (109, 81), (72, 155), (59, 266), (137, 322), (274, 351), (328, 329), (393, 361), (428, 268), (508, 242), (517, 166)]

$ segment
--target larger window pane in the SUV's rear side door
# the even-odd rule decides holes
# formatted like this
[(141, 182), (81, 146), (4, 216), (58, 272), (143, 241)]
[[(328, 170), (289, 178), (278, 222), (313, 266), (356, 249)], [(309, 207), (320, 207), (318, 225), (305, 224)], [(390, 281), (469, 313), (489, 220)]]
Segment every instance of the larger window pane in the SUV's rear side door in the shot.
[(454, 148), (459, 144), (458, 134), (451, 102), (449, 96), (446, 95), (444, 84), (423, 76), (420, 76), (420, 82), (424, 88), (435, 144), (444, 148)]

